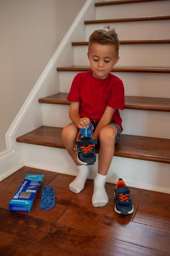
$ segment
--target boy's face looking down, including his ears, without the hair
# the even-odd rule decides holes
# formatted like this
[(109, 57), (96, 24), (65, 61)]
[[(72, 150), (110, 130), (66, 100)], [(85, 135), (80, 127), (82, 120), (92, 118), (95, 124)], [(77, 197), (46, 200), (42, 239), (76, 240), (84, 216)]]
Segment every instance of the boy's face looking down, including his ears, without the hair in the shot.
[(92, 44), (87, 53), (92, 75), (99, 79), (107, 78), (112, 67), (118, 62), (119, 57), (115, 55), (115, 46), (110, 44)]

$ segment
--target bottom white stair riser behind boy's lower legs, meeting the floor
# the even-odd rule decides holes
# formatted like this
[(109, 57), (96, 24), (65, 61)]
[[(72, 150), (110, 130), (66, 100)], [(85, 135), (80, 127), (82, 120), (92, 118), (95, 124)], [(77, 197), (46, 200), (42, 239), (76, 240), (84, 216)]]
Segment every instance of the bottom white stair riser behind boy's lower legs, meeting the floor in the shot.
[[(77, 168), (65, 149), (31, 144), (23, 145), (26, 166), (77, 175)], [(89, 178), (94, 179), (98, 164), (89, 166), (89, 168), (91, 170)], [(170, 193), (170, 172), (169, 165), (166, 163), (113, 157), (107, 182), (116, 183), (120, 177), (124, 177), (127, 186)]]

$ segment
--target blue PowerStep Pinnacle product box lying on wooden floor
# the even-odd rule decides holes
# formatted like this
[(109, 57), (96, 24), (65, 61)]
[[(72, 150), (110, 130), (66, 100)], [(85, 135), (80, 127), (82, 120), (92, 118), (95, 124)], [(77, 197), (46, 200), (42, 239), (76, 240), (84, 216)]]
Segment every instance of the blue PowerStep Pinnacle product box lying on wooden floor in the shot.
[(29, 212), (44, 175), (26, 175), (19, 189), (9, 202), (10, 211)]

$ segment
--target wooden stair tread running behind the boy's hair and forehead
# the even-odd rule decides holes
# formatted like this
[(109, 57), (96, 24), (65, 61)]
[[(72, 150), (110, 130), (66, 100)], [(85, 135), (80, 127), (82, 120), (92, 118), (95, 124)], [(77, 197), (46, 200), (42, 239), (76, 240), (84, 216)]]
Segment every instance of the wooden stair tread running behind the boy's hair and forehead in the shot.
[[(88, 45), (89, 42), (72, 42), (72, 46)], [(119, 44), (170, 44), (170, 39), (121, 40)]]

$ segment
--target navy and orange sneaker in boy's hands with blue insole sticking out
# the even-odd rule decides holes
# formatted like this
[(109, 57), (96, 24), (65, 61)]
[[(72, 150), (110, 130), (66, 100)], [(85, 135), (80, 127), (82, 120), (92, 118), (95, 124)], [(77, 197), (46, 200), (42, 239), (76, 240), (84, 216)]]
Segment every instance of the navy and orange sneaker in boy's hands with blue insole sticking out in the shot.
[(89, 127), (80, 129), (76, 139), (76, 151), (78, 163), (84, 165), (95, 164), (96, 155), (94, 144), (97, 144), (97, 140), (92, 140), (92, 124)]

